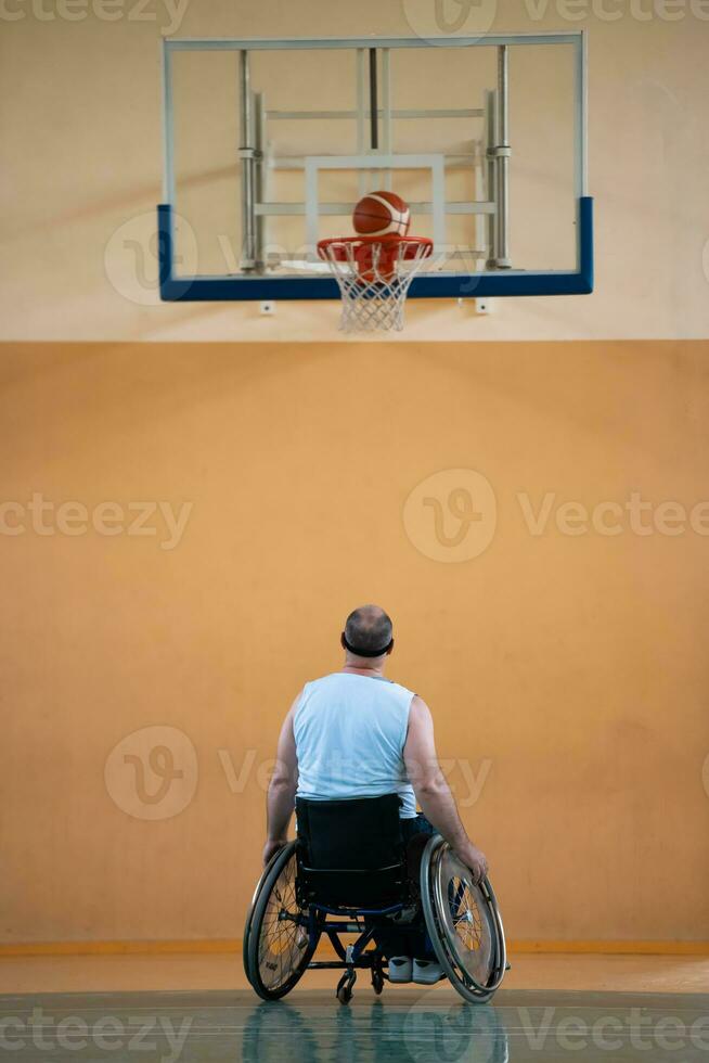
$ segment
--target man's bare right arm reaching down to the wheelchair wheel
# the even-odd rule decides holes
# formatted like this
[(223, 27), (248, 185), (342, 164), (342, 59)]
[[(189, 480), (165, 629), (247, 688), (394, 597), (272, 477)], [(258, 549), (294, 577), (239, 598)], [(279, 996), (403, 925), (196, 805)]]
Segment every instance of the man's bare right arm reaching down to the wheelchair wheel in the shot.
[(430, 710), (418, 696), (411, 703), (403, 759), (424, 816), (479, 882), (487, 874), (487, 860), (470, 842), (461, 822), (455, 799), (438, 764)]

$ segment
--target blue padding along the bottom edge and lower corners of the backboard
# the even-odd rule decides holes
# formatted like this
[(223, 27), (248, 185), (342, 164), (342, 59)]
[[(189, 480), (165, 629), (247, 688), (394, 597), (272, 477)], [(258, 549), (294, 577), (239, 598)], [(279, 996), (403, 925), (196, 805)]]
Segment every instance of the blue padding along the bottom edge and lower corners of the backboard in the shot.
[[(503, 298), (524, 295), (589, 295), (593, 291), (593, 198), (579, 200), (579, 269), (566, 272), (497, 270), (454, 276), (426, 273), (412, 281), (409, 298)], [(168, 303), (250, 299), (337, 299), (330, 277), (173, 277), (172, 207), (157, 208), (160, 298)]]

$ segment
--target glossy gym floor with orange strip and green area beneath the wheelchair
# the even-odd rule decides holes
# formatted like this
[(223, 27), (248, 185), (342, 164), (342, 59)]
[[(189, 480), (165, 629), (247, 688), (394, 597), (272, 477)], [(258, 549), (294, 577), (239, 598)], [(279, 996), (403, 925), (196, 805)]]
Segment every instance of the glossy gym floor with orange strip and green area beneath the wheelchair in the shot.
[[(284, 1001), (260, 1001), (233, 957), (4, 959), (0, 1048), (23, 1063), (709, 1060), (706, 957), (513, 962), (492, 1004), (465, 1004), (446, 983), (375, 997), (362, 974), (341, 1007), (332, 972), (306, 976)], [(47, 991), (60, 988), (74, 991)]]

